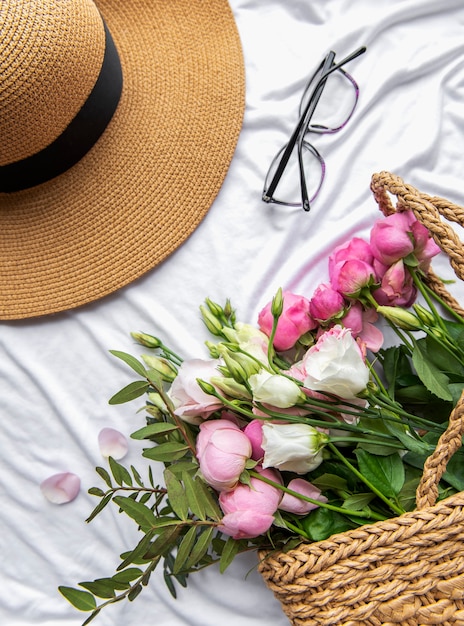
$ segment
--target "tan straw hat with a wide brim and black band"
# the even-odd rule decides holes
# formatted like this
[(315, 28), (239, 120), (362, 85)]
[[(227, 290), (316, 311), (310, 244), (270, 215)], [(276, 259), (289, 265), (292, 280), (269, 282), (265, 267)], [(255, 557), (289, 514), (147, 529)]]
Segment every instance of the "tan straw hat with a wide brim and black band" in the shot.
[(0, 319), (163, 261), (216, 197), (243, 108), (227, 0), (2, 0)]

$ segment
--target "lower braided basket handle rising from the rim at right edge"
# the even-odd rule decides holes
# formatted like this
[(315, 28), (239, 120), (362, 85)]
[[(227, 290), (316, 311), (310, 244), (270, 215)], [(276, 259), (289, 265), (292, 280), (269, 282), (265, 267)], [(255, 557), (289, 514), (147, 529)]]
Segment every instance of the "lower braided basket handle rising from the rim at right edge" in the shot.
[(435, 504), (438, 483), (446, 471), (448, 461), (462, 445), (464, 434), (464, 391), (451, 411), (448, 428), (438, 440), (437, 447), (424, 463), (424, 471), (416, 491), (416, 507), (423, 509)]

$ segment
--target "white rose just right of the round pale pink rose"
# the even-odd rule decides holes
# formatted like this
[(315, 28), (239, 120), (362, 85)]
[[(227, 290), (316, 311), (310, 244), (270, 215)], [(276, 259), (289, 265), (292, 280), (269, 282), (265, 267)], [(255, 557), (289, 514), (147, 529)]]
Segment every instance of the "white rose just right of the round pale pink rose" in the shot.
[(263, 467), (306, 474), (322, 463), (327, 435), (307, 424), (263, 424)]

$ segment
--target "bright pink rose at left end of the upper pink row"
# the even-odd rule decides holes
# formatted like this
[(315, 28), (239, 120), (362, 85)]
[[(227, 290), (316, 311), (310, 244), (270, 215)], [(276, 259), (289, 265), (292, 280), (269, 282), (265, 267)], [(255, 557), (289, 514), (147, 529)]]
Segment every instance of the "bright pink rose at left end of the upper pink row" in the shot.
[[(279, 317), (274, 336), (274, 347), (279, 351), (293, 348), (302, 335), (317, 326), (309, 314), (309, 300), (307, 298), (289, 291), (284, 291), (282, 297), (283, 311)], [(272, 302), (269, 302), (258, 315), (259, 327), (268, 337), (274, 324), (271, 307)]]

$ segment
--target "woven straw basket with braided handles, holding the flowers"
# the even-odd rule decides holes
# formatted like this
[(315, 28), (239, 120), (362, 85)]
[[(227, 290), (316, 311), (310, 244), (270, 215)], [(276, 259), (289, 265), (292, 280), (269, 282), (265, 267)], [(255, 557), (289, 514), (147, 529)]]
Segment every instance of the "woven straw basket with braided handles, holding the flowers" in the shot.
[[(432, 198), (388, 172), (371, 189), (385, 215), (412, 209), (463, 278), (464, 251), (453, 229), (464, 210)], [(459, 304), (430, 273), (430, 285), (453, 308)], [(400, 517), (303, 543), (287, 553), (261, 553), (260, 572), (294, 626), (464, 626), (464, 492), (436, 503), (438, 483), (464, 433), (464, 393), (449, 426), (427, 459), (416, 510)]]

